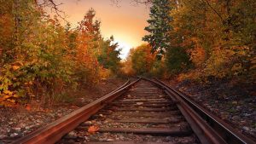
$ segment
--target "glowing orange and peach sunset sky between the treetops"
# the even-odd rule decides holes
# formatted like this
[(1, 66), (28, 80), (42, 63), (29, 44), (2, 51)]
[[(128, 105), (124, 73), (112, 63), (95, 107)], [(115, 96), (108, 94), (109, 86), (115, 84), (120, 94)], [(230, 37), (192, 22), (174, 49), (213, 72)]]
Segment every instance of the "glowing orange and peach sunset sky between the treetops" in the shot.
[(113, 35), (115, 42), (122, 48), (120, 57), (125, 59), (131, 48), (144, 43), (142, 37), (147, 34), (144, 27), (148, 25), (149, 8), (145, 5), (131, 3), (132, 0), (122, 0), (119, 5), (111, 0), (56, 0), (63, 3), (59, 9), (67, 14), (67, 20), (76, 26), (83, 20), (88, 9), (96, 10), (96, 19), (102, 21), (102, 36)]

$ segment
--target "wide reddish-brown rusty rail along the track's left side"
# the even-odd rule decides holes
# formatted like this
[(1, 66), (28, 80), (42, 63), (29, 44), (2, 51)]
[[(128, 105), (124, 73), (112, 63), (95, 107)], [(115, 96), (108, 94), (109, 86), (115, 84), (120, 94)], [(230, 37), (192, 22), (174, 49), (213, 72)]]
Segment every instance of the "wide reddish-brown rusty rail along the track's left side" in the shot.
[(79, 124), (90, 118), (91, 115), (98, 112), (102, 107), (105, 107), (110, 101), (113, 101), (119, 95), (123, 95), (128, 89), (140, 81), (141, 78), (130, 84), (127, 81), (119, 89), (113, 90), (108, 95), (102, 96), (102, 98), (91, 102), (90, 104), (79, 108), (78, 110), (71, 112), (67, 116), (56, 120), (55, 122), (48, 124), (42, 129), (36, 130), (29, 135), (21, 137), (14, 144), (52, 144), (59, 141), (63, 135), (66, 135), (71, 130), (75, 129)]

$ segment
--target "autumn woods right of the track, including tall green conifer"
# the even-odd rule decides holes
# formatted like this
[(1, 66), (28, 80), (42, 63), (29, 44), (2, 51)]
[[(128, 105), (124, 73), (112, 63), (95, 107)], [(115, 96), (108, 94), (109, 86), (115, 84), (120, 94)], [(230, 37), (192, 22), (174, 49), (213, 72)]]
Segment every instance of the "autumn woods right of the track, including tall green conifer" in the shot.
[[(150, 3), (150, 1), (139, 1)], [(129, 74), (255, 81), (254, 1), (154, 1), (148, 45), (131, 49)], [(162, 10), (160, 10), (160, 9)]]

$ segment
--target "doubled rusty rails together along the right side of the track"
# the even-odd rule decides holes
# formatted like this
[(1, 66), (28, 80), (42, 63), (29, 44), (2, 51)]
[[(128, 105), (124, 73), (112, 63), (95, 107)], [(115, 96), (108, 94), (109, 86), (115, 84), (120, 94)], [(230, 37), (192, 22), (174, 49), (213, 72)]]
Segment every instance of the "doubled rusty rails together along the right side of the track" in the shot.
[[(256, 143), (253, 140), (249, 139), (247, 136), (242, 135), (240, 132), (232, 128), (229, 124), (226, 124), (224, 120), (213, 115), (212, 112), (209, 112), (206, 108), (201, 107), (195, 101), (191, 100), (188, 95), (184, 95), (179, 90), (169, 87), (167, 84), (161, 82), (157, 78), (154, 78), (155, 81), (148, 78), (145, 79), (154, 82), (163, 89), (166, 89), (166, 93), (170, 95), (172, 99), (175, 99), (179, 102), (179, 107), (183, 107), (183, 109), (189, 113), (190, 118), (195, 118), (195, 121), (197, 121), (196, 123), (201, 125), (201, 130), (197, 130), (197, 133), (199, 133), (200, 135), (206, 135), (209, 139), (212, 139), (211, 141), (213, 143), (218, 143), (218, 140), (230, 144)], [(215, 134), (212, 133), (212, 131), (214, 131)], [(217, 137), (213, 138), (214, 136)], [(200, 137), (201, 136), (199, 136), (199, 138)]]

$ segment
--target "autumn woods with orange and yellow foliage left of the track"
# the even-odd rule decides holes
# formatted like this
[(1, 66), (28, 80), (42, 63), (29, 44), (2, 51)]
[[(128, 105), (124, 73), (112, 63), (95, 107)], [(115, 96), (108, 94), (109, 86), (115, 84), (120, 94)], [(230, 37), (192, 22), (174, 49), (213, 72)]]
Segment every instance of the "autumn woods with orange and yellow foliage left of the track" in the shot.
[(51, 18), (45, 12), (53, 4), (1, 0), (1, 105), (27, 103), (42, 94), (52, 99), (119, 71), (118, 43), (102, 37), (96, 11), (89, 9), (72, 28), (68, 22), (61, 25), (58, 13)]

